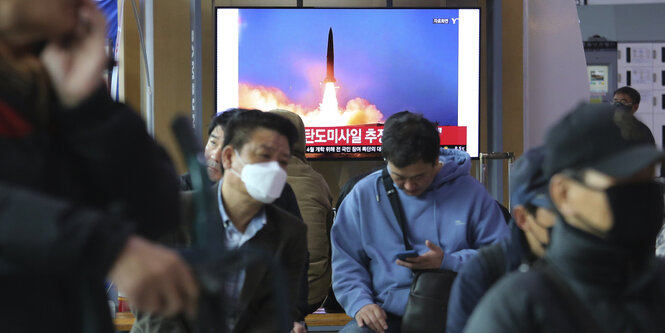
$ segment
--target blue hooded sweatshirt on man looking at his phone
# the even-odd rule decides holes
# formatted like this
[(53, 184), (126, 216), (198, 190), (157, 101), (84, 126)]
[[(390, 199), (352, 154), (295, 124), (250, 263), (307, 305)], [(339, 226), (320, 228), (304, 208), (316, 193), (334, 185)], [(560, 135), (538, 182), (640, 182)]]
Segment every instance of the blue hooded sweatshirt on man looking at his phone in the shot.
[[(419, 196), (397, 188), (406, 215), (408, 240), (422, 255), (425, 240), (443, 249), (441, 268), (458, 271), (507, 232), (495, 200), (469, 174), (469, 155), (445, 150), (439, 173)], [(395, 263), (404, 241), (386, 195), (381, 171), (360, 180), (339, 208), (332, 227), (333, 289), (346, 313), (355, 317), (367, 304), (404, 314), (412, 272)]]

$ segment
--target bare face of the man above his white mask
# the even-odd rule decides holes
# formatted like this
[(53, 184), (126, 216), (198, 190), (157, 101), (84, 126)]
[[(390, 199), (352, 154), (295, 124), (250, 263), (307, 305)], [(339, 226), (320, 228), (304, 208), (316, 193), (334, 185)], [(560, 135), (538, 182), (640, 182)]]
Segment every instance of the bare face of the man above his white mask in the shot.
[[(251, 139), (235, 153), (235, 148), (227, 145), (222, 150), (224, 169), (233, 168), (238, 174), (247, 164), (277, 161), (280, 167), (286, 171), (286, 166), (291, 158), (289, 141), (277, 131), (267, 128), (257, 128), (252, 132)], [(231, 182), (232, 186), (247, 194), (247, 190), (240, 177), (233, 172), (226, 172), (224, 182)]]

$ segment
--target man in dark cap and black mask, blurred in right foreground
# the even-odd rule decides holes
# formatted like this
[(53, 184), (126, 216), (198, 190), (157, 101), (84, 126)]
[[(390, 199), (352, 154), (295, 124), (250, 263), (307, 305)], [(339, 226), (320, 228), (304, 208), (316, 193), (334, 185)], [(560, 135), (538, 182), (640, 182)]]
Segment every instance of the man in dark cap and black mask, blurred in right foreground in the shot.
[(542, 265), (499, 281), (465, 332), (662, 332), (665, 264), (654, 256), (665, 154), (639, 121), (581, 105), (545, 138), (559, 220)]

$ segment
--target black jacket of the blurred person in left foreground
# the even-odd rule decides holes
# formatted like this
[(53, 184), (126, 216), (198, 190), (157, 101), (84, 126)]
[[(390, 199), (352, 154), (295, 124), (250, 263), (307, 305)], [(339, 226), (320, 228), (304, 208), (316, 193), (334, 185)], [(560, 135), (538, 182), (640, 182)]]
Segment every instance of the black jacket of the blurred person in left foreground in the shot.
[(177, 224), (173, 166), (103, 89), (72, 110), (50, 104), (47, 121), (5, 93), (0, 294), (11, 305), (2, 330), (114, 332), (105, 276), (130, 234), (154, 239)]

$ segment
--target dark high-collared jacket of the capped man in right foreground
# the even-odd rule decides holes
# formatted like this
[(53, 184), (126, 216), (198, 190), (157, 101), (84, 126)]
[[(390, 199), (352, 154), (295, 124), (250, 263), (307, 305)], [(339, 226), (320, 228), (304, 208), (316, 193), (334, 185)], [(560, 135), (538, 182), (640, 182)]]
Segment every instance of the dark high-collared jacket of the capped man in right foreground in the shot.
[(580, 314), (599, 332), (662, 332), (665, 263), (650, 252), (628, 255), (559, 221), (545, 259), (583, 310), (538, 270), (516, 272), (486, 294), (465, 332), (584, 332)]

